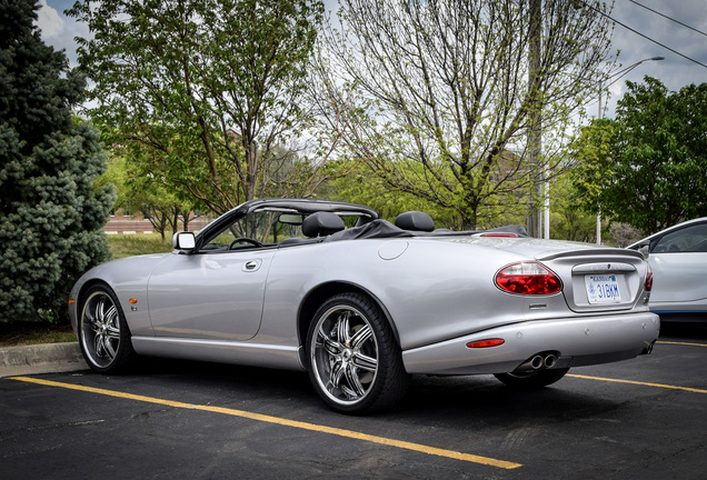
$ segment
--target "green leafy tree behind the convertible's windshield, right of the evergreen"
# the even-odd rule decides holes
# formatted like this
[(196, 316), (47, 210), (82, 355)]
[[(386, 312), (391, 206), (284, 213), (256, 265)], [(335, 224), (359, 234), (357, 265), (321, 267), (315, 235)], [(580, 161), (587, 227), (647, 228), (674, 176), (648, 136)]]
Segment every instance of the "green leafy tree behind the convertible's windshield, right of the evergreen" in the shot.
[(322, 12), (318, 0), (77, 2), (69, 14), (93, 33), (79, 40), (96, 82), (90, 114), (146, 173), (217, 213), (297, 193), (273, 177), (291, 166), (288, 136), (308, 126), (301, 98)]

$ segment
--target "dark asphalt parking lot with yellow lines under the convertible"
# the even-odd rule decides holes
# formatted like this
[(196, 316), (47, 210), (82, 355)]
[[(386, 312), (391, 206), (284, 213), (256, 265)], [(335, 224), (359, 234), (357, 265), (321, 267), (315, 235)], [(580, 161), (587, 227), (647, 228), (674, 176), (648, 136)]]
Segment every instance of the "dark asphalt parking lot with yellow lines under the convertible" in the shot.
[(416, 377), (395, 411), (326, 409), (306, 374), (146, 360), (0, 379), (0, 478), (703, 479), (707, 329), (516, 392)]

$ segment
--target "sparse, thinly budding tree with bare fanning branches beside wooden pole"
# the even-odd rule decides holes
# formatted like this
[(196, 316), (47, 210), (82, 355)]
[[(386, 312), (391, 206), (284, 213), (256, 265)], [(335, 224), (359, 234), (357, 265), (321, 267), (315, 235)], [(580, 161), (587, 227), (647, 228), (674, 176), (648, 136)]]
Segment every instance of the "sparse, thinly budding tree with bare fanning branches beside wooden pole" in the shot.
[[(528, 3), (341, 0), (342, 32), (327, 31), (317, 70), (333, 137), (388, 184), (455, 209), (464, 228), (482, 208), (524, 211), (517, 191), (558, 167), (551, 153), (596, 93), (586, 86), (605, 74), (610, 33), (603, 2), (548, 0), (538, 44)], [(546, 154), (530, 162), (536, 128)]]

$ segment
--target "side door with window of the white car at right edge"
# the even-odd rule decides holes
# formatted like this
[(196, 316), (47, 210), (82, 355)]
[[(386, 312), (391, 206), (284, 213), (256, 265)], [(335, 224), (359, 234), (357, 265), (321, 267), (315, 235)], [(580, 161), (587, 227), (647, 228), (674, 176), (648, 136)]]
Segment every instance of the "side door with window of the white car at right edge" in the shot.
[[(685, 310), (707, 299), (707, 223), (691, 224), (651, 242), (648, 262), (654, 273), (651, 306)], [(688, 308), (689, 310), (689, 308)]]

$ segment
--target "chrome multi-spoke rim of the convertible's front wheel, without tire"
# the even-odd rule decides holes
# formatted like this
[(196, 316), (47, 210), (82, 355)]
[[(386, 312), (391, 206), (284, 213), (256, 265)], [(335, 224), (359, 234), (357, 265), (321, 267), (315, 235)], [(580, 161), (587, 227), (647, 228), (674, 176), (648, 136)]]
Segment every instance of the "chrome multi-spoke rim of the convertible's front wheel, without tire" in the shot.
[(120, 318), (110, 296), (98, 290), (83, 303), (81, 343), (87, 359), (99, 369), (111, 367), (120, 348)]

